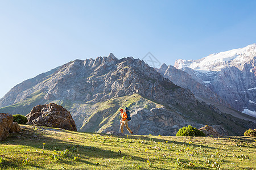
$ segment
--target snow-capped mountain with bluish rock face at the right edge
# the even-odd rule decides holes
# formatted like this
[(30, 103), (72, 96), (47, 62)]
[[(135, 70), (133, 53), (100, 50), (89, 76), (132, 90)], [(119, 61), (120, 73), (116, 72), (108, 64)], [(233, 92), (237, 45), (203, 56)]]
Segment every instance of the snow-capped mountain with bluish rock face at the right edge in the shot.
[(256, 44), (196, 60), (177, 59), (174, 66), (200, 79), (233, 108), (256, 117)]

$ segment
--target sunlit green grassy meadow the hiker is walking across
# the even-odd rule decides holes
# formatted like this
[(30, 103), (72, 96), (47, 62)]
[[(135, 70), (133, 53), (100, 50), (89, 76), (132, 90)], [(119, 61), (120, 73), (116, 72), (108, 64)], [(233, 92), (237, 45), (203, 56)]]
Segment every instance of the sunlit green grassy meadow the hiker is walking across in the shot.
[(252, 137), (117, 137), (24, 126), (0, 143), (0, 169), (256, 168)]

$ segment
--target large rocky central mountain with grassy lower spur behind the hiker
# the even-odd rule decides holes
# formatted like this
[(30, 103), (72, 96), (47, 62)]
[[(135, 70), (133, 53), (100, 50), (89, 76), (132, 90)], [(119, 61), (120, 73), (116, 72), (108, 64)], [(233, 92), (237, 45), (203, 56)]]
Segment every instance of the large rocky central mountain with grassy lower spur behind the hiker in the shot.
[(27, 114), (35, 105), (56, 103), (71, 112), (78, 130), (100, 132), (118, 131), (118, 110), (125, 106), (137, 134), (174, 135), (188, 124), (220, 125), (229, 134), (242, 134), (254, 126), (214, 111), (133, 57), (77, 59), (47, 74), (30, 86), (23, 86), (28, 80), (15, 86), (0, 100), (0, 112)]

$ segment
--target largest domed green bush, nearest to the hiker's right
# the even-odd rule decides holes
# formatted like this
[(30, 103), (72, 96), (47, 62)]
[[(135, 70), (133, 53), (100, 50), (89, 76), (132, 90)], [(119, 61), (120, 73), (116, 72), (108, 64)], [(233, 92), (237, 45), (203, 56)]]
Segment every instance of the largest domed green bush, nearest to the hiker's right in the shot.
[(203, 131), (200, 131), (196, 128), (193, 128), (191, 125), (188, 125), (181, 128), (177, 132), (176, 136), (205, 137), (205, 134), (203, 133)]

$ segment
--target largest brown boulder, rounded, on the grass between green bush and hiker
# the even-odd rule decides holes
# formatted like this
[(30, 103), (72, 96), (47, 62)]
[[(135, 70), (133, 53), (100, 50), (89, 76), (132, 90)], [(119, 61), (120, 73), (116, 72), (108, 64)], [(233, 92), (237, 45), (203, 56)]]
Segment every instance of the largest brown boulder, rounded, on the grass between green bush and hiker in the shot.
[(70, 112), (61, 105), (49, 103), (37, 105), (26, 115), (28, 125), (47, 126), (77, 131), (75, 121)]

